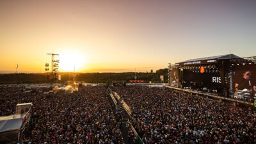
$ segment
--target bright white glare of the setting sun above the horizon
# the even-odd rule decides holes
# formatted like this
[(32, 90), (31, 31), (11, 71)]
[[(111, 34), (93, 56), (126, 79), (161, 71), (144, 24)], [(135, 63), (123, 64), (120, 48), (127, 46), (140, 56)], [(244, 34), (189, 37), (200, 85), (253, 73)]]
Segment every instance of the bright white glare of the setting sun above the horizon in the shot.
[(79, 53), (74, 51), (66, 51), (60, 53), (60, 70), (73, 71), (74, 67), (77, 70), (81, 68), (86, 63), (86, 59)]

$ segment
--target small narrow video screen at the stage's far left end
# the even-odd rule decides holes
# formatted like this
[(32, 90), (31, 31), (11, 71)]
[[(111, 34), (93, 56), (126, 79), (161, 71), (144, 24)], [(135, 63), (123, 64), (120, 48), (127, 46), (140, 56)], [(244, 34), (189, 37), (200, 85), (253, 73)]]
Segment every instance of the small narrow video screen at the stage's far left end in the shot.
[(181, 88), (179, 68), (170, 69), (170, 84), (173, 87)]

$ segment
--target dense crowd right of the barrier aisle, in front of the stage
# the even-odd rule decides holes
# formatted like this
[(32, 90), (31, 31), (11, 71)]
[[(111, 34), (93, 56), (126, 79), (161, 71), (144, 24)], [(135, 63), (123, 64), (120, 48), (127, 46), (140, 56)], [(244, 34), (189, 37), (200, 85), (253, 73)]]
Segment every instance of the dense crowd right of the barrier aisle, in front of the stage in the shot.
[(256, 113), (251, 109), (163, 88), (111, 90), (132, 109), (130, 121), (145, 144), (256, 143)]

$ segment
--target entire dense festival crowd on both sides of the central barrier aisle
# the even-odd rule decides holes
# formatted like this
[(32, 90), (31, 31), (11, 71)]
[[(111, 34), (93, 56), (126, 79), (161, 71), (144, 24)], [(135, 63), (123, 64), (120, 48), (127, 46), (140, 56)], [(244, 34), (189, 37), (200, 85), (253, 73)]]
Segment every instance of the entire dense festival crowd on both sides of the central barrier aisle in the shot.
[[(131, 109), (129, 120), (145, 144), (256, 143), (252, 109), (168, 88), (113, 86), (111, 90)], [(123, 109), (114, 115), (113, 101), (102, 86), (56, 95), (5, 87), (0, 95), (0, 116), (13, 115), (18, 103), (33, 102), (36, 123), (20, 143), (124, 143), (118, 123)], [(129, 126), (129, 142), (134, 137)]]

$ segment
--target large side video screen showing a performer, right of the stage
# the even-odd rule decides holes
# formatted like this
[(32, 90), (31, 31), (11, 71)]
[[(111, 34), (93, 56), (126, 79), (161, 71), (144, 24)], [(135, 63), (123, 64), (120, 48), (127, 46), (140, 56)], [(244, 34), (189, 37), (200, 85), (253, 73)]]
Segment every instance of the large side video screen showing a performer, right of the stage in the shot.
[(252, 101), (256, 100), (255, 64), (232, 65), (230, 76), (230, 97)]

